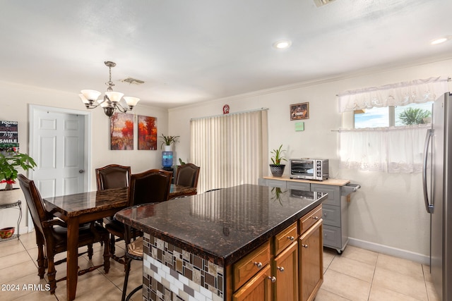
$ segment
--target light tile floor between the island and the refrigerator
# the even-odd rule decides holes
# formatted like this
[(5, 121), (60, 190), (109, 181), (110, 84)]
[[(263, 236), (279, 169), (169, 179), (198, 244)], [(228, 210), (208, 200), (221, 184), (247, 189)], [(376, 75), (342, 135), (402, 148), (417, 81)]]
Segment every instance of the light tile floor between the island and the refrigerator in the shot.
[(316, 301), (440, 301), (429, 266), (347, 246), (323, 250), (323, 285)]

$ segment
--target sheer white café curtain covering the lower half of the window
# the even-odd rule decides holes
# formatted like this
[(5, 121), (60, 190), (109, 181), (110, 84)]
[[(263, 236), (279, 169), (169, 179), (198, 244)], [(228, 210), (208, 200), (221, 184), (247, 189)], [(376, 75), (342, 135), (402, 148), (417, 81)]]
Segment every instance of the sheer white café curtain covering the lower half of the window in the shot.
[(429, 125), (340, 130), (342, 168), (420, 173)]

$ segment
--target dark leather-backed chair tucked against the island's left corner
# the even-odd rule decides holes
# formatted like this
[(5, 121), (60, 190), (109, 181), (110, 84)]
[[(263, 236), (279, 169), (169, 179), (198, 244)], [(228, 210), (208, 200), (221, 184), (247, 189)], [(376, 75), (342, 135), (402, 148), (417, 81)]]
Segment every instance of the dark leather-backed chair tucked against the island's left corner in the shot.
[[(143, 173), (133, 174), (129, 186), (129, 206), (167, 201), (169, 198), (169, 188), (171, 187), (171, 178), (171, 172), (159, 169), (151, 169)], [(133, 259), (143, 260), (143, 238), (131, 241), (133, 239), (132, 229), (129, 226), (124, 226), (124, 224), (123, 228), (124, 238), (126, 240), (126, 254), (124, 255), (126, 276), (124, 278), (124, 288), (122, 289), (122, 301), (129, 300), (131, 295), (143, 287), (143, 284), (139, 285), (126, 297), (131, 261)]]

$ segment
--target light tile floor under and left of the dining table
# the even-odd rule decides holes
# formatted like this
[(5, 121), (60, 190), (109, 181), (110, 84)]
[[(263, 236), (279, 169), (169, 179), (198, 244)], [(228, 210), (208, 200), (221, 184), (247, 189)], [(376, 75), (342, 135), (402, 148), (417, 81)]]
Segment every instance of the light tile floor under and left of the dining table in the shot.
[[(80, 252), (86, 250), (81, 248)], [(116, 253), (124, 254), (124, 241), (117, 243)], [(93, 260), (88, 260), (84, 254), (78, 258), (81, 269), (102, 264), (103, 247), (94, 245)], [(64, 258), (65, 253), (57, 254), (56, 260)], [(0, 300), (67, 300), (66, 281), (57, 283), (55, 295), (48, 291), (37, 290), (40, 285), (43, 289), (48, 283), (47, 276), (40, 280), (37, 276), (37, 246), (35, 233), (20, 235), (20, 240), (7, 240), (0, 242)], [(78, 277), (76, 300), (121, 300), (122, 286), (124, 284), (124, 265), (110, 260), (110, 270), (105, 274), (103, 268), (92, 271)], [(132, 261), (129, 275), (128, 292), (142, 283), (143, 262)], [(66, 276), (66, 263), (56, 266), (57, 278)], [(24, 287), (25, 285), (25, 287)], [(29, 288), (29, 285), (30, 288)], [(33, 287), (34, 285), (34, 287)], [(131, 300), (141, 300), (141, 295), (136, 293)]]

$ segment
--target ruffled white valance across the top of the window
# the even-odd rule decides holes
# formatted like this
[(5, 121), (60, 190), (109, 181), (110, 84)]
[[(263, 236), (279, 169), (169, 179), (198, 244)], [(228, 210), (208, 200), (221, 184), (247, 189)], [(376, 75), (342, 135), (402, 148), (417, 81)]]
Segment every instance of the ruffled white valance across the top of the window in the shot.
[(446, 77), (427, 78), (343, 92), (338, 94), (340, 112), (431, 102), (448, 91), (447, 82)]

